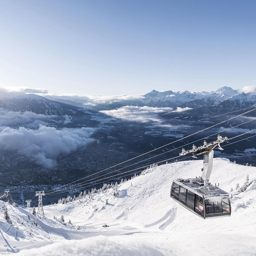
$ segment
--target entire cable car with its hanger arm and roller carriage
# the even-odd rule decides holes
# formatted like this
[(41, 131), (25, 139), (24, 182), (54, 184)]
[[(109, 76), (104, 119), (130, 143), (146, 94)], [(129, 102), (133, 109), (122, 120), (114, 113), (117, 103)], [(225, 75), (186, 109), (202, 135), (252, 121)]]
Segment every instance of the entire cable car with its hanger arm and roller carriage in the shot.
[(228, 193), (218, 186), (209, 183), (212, 163), (214, 160), (214, 149), (218, 146), (219, 150), (223, 150), (220, 143), (227, 140), (227, 137), (222, 138), (218, 135), (216, 141), (211, 141), (209, 143), (204, 141), (203, 146), (196, 147), (193, 145), (193, 149), (188, 151), (185, 151), (183, 148), (182, 153), (180, 154), (181, 156), (193, 154), (193, 157), (195, 157), (194, 154), (203, 154), (203, 173), (199, 178), (179, 178), (174, 180), (172, 188), (170, 189), (170, 197), (186, 209), (204, 219), (231, 215)]

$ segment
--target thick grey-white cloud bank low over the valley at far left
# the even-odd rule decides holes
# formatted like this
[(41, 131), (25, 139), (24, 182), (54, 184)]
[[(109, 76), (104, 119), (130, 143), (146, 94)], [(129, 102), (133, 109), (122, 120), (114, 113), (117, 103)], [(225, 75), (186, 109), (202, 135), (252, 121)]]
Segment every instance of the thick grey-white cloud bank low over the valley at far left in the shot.
[(93, 133), (93, 129), (86, 127), (62, 130), (44, 125), (37, 130), (6, 127), (0, 132), (0, 147), (29, 157), (43, 167), (52, 168), (60, 154), (68, 154), (92, 142), (90, 137)]

